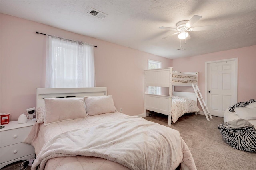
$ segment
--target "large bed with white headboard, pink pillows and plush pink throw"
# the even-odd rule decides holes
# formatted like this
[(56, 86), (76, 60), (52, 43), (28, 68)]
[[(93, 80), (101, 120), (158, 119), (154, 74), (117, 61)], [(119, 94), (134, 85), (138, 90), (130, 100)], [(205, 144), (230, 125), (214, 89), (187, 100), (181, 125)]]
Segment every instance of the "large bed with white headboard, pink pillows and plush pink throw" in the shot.
[(36, 107), (32, 170), (196, 170), (178, 131), (117, 112), (104, 87), (38, 88)]

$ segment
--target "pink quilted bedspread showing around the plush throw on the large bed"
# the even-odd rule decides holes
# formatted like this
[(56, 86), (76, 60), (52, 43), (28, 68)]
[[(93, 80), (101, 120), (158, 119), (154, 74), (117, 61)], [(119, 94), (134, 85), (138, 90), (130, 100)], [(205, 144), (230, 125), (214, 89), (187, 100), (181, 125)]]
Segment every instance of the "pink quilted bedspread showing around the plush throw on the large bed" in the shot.
[[(119, 121), (124, 120), (125, 118), (129, 118), (130, 116), (124, 115), (122, 113), (106, 113), (101, 115), (95, 115), (95, 116), (89, 116), (84, 119), (76, 119), (76, 120), (68, 120), (68, 121), (62, 121), (58, 123), (52, 123), (50, 125), (45, 126), (44, 123), (36, 123), (32, 131), (30, 132), (29, 136), (25, 139), (25, 143), (29, 143), (34, 146), (35, 153), (38, 159), (41, 159), (41, 155), (47, 154), (47, 152), (50, 152), (50, 150), (47, 149), (46, 152), (43, 152), (42, 150), (47, 146), (47, 143), (51, 141), (52, 139), (56, 138), (58, 135), (62, 135), (63, 133), (68, 133), (70, 131), (74, 131), (75, 129), (82, 129), (87, 127), (96, 127), (97, 125), (106, 124), (106, 122), (113, 122), (113, 121)], [(139, 117), (140, 118), (140, 117)], [(138, 119), (138, 117), (137, 117)], [(142, 119), (142, 118), (141, 118)], [(144, 120), (144, 119), (143, 119)], [(146, 120), (144, 120), (146, 121)], [(148, 122), (148, 121), (147, 121)], [(150, 122), (152, 123), (152, 122)], [(156, 123), (155, 123), (156, 124)], [(157, 124), (158, 125), (158, 124)], [(161, 126), (161, 125), (160, 125)], [(139, 129), (138, 127), (134, 127), (136, 129)], [(167, 128), (164, 127), (163, 128)], [(91, 128), (90, 128), (91, 129)], [(161, 131), (161, 129), (160, 129)], [(168, 128), (168, 131), (170, 129)], [(115, 133), (113, 130), (108, 131), (109, 135), (111, 133)], [(178, 132), (174, 132), (178, 133)], [(192, 158), (192, 155), (186, 145), (186, 143), (183, 141), (183, 139), (180, 137), (179, 133), (178, 135), (173, 135), (170, 139), (171, 141), (174, 139), (178, 139), (178, 145), (173, 145), (171, 148), (171, 152), (168, 154), (166, 161), (171, 162), (173, 164), (173, 169), (175, 169), (180, 163), (182, 166), (182, 169), (196, 169), (196, 166), (194, 164), (194, 160)], [(57, 138), (58, 139), (58, 138)], [(58, 139), (59, 140), (59, 139)], [(94, 139), (93, 139), (94, 140)], [(128, 140), (128, 139), (127, 139)], [(63, 141), (64, 140), (60, 140)], [(66, 140), (65, 140), (66, 141)], [(175, 140), (174, 140), (175, 141)], [(62, 142), (58, 142), (62, 143)], [(175, 143), (175, 142), (174, 142)], [(56, 143), (52, 143), (49, 145), (49, 148), (52, 148), (53, 145), (56, 145)], [(152, 145), (152, 143), (150, 144)], [(59, 146), (59, 144), (57, 145)], [(60, 148), (60, 147), (59, 147)], [(62, 148), (62, 147), (61, 147)], [(133, 148), (126, 147), (130, 149), (133, 152)], [(55, 148), (56, 149), (56, 148)], [(147, 149), (146, 149), (147, 150)], [(168, 149), (169, 150), (169, 149)], [(135, 150), (134, 150), (135, 152)], [(176, 154), (175, 156), (173, 154)], [(84, 169), (90, 169), (90, 170), (112, 170), (112, 169), (118, 169), (118, 170), (127, 170), (128, 168), (122, 164), (119, 164), (115, 161), (110, 161), (104, 158), (99, 157), (86, 157), (86, 156), (79, 156), (79, 155), (73, 155), (73, 156), (65, 156), (62, 154), (59, 154), (60, 157), (49, 157), (49, 160), (44, 161), (43, 159), (40, 160), (40, 170), (41, 169), (75, 169), (75, 170), (84, 170)], [(146, 158), (148, 155), (145, 155)], [(135, 158), (136, 159), (136, 158)], [(141, 158), (144, 160), (145, 158)], [(155, 159), (153, 159), (155, 160)], [(40, 162), (39, 161), (39, 162)], [(165, 162), (165, 163), (167, 163)], [(34, 166), (32, 165), (32, 170), (36, 169), (36, 164), (38, 163), (38, 160), (35, 160)], [(148, 163), (146, 163), (148, 164)]]

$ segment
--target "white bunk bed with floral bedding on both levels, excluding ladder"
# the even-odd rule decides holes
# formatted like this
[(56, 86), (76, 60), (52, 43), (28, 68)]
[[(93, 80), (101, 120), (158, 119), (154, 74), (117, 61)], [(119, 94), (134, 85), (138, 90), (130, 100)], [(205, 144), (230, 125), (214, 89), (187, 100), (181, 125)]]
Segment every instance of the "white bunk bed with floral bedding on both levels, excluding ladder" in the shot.
[[(168, 125), (170, 126), (171, 123), (175, 123), (178, 117), (185, 113), (200, 111), (197, 107), (196, 93), (174, 91), (175, 86), (192, 86), (192, 84), (196, 86), (198, 72), (182, 73), (173, 71), (172, 67), (170, 67), (145, 70), (144, 74), (144, 117), (146, 117), (147, 110), (168, 115)], [(149, 86), (167, 87), (169, 88), (169, 95), (149, 94)]]

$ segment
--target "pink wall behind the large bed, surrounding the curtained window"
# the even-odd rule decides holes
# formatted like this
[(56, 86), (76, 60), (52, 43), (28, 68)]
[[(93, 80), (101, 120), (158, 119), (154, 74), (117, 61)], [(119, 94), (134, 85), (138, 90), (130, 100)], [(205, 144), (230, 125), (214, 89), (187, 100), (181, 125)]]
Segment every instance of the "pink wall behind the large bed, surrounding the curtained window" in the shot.
[(10, 112), (11, 121), (36, 107), (36, 88), (44, 87), (46, 36), (36, 31), (97, 45), (96, 86), (106, 86), (116, 108), (122, 107), (127, 115), (144, 111), (148, 59), (161, 61), (162, 67), (172, 66), (172, 59), (0, 14), (0, 112)]

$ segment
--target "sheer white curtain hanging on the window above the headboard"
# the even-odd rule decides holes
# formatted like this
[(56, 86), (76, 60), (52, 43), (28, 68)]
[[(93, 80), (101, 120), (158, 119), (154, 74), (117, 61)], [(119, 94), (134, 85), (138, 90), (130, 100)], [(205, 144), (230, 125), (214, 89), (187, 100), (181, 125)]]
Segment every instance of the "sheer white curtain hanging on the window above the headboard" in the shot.
[(46, 87), (94, 87), (94, 46), (46, 35)]

